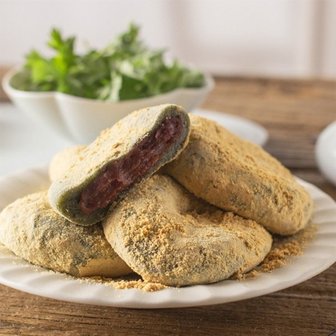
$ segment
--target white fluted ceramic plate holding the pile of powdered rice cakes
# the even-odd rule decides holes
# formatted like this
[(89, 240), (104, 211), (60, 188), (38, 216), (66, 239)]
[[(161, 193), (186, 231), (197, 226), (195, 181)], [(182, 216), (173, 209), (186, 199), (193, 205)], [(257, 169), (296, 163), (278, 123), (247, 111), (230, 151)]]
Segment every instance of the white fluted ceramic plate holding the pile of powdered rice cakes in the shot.
[[(158, 292), (118, 290), (88, 284), (61, 273), (32, 266), (0, 248), (0, 283), (24, 292), (57, 300), (132, 308), (172, 308), (219, 304), (272, 293), (319, 274), (336, 261), (336, 203), (313, 185), (302, 182), (315, 202), (318, 232), (303, 255), (272, 273), (244, 281), (226, 280), (212, 285), (168, 288)], [(48, 185), (47, 170), (31, 169), (0, 178), (0, 209), (16, 198)]]

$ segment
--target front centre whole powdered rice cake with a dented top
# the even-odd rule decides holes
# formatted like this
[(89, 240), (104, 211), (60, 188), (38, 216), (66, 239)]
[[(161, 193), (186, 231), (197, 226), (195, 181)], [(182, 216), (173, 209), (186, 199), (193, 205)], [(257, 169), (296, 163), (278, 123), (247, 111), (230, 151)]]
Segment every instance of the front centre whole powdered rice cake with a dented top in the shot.
[(163, 175), (134, 188), (103, 226), (131, 269), (145, 281), (170, 286), (217, 282), (248, 271), (272, 244), (256, 222), (197, 199)]

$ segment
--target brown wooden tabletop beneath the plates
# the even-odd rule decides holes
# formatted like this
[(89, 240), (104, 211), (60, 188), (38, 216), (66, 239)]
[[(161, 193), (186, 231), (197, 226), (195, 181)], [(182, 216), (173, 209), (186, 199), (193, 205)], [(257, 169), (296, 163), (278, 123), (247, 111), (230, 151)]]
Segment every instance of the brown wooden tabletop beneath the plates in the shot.
[[(204, 107), (253, 119), (266, 149), (336, 198), (316, 169), (318, 133), (336, 119), (336, 83), (227, 78)], [(329, 335), (336, 329), (336, 265), (295, 287), (217, 306), (134, 310), (59, 302), (0, 286), (0, 335)]]

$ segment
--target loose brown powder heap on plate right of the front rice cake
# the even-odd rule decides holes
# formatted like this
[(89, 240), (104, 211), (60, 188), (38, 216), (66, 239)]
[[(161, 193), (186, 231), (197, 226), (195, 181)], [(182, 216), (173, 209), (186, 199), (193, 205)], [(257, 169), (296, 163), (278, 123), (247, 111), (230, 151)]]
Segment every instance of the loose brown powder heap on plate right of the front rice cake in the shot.
[(314, 238), (317, 231), (315, 224), (310, 224), (304, 230), (290, 237), (273, 235), (271, 251), (264, 261), (248, 273), (236, 273), (232, 276), (235, 280), (252, 279), (261, 273), (270, 273), (273, 270), (285, 266), (291, 257), (303, 253), (306, 245)]

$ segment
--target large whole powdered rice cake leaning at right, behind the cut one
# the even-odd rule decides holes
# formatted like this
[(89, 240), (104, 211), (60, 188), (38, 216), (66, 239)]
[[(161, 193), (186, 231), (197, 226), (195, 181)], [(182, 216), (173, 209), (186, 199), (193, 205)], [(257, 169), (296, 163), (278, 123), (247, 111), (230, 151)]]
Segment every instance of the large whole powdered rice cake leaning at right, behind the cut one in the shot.
[(190, 115), (186, 149), (164, 172), (197, 197), (255, 220), (272, 233), (291, 235), (306, 226), (313, 203), (279, 161), (214, 121)]

